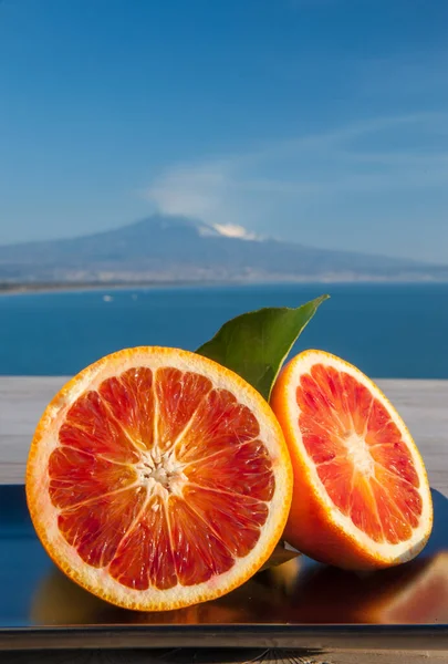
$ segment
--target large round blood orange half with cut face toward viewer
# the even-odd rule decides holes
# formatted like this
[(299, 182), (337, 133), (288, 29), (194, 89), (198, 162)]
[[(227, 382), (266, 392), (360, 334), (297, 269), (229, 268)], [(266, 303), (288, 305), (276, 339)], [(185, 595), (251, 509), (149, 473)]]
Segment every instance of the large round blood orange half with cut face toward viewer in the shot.
[(80, 585), (160, 611), (220, 596), (272, 553), (292, 468), (268, 403), (219, 364), (137, 347), (85, 369), (45, 409), (27, 498)]

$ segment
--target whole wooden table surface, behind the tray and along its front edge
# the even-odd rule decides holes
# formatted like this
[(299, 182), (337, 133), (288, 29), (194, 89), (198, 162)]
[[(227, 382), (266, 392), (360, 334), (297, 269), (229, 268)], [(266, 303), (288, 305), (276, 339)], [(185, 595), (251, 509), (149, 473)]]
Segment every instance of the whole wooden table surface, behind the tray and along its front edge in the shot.
[[(22, 483), (28, 448), (39, 417), (65, 377), (1, 377), (0, 376), (0, 484)], [(378, 381), (407, 423), (424, 456), (430, 484), (448, 497), (448, 381)], [(433, 643), (409, 650), (383, 650), (378, 640), (368, 650), (346, 645), (331, 645), (322, 652), (290, 651), (201, 651), (154, 653), (147, 650), (92, 650), (80, 643), (75, 651), (4, 652), (1, 664), (230, 664), (265, 662), (273, 664), (416, 664), (435, 661), (448, 662), (448, 650), (434, 650)], [(236, 643), (238, 646), (238, 643)], [(37, 647), (42, 647), (42, 644)]]

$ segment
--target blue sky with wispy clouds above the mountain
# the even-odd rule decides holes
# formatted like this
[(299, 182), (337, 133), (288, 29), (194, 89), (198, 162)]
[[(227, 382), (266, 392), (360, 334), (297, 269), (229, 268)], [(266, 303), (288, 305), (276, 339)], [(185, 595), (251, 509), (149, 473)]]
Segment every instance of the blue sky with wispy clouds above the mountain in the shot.
[(446, 0), (0, 0), (0, 242), (159, 210), (448, 263), (447, 38)]

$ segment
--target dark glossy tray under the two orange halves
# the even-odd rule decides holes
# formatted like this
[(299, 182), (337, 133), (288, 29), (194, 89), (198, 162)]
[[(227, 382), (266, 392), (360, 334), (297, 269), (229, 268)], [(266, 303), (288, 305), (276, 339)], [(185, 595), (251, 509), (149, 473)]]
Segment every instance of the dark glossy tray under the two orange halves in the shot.
[(67, 580), (34, 535), (23, 486), (0, 486), (0, 650), (448, 650), (448, 500), (435, 490), (433, 498), (433, 536), (407, 564), (356, 574), (300, 557), (219, 600), (138, 613)]

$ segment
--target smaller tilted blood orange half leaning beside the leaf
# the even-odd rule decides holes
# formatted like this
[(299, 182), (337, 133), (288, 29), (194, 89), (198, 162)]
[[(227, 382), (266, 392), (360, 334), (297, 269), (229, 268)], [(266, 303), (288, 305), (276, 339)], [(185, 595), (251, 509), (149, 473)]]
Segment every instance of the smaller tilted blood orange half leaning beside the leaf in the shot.
[(294, 469), (285, 538), (347, 569), (398, 564), (433, 527), (428, 479), (404, 422), (360, 370), (305, 351), (280, 374), (271, 405)]

